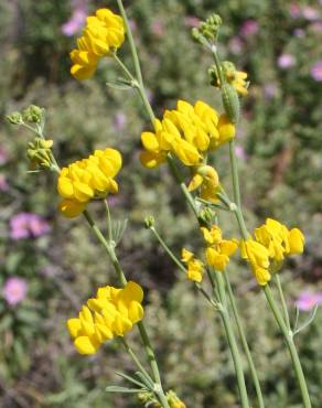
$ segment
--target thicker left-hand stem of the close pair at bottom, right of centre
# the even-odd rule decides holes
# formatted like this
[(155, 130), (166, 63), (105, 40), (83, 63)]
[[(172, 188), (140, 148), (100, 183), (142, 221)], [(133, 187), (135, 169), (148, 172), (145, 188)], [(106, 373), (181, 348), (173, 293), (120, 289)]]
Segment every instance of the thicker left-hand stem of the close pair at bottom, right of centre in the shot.
[(222, 272), (216, 272), (214, 273), (215, 280), (218, 287), (218, 293), (219, 293), (219, 299), (222, 303), (222, 308), (219, 309), (219, 313), (224, 323), (225, 332), (226, 332), (226, 337), (232, 352), (232, 357), (235, 366), (235, 372), (236, 372), (236, 377), (237, 377), (237, 383), (238, 383), (238, 389), (239, 389), (239, 396), (240, 396), (240, 402), (243, 408), (249, 408), (249, 402), (248, 402), (248, 396), (247, 396), (247, 388), (245, 384), (245, 377), (244, 377), (244, 372), (243, 372), (243, 364), (239, 355), (239, 351), (237, 347), (237, 342), (236, 337), (234, 334), (232, 321), (227, 311), (227, 300), (226, 300), (226, 292), (225, 292), (225, 282), (223, 278)]

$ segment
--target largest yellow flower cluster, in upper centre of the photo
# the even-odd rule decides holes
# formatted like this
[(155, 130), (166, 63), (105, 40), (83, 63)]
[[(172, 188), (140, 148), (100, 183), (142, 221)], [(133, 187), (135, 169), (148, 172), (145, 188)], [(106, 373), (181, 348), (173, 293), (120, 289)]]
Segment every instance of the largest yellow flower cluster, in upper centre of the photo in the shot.
[(198, 165), (208, 150), (214, 150), (235, 137), (235, 127), (226, 115), (197, 100), (194, 106), (179, 100), (176, 109), (165, 110), (162, 121), (155, 119), (154, 132), (142, 132), (146, 149), (141, 162), (154, 168), (164, 162), (168, 153), (185, 165)]

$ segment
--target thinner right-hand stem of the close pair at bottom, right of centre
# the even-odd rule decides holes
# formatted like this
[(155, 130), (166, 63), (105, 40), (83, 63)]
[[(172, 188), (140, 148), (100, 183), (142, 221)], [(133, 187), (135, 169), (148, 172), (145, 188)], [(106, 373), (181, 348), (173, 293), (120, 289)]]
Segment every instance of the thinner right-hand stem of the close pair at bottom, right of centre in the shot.
[(240, 341), (242, 341), (242, 344), (243, 344), (243, 347), (244, 347), (244, 351), (245, 351), (245, 354), (246, 354), (246, 357), (247, 357), (247, 362), (248, 362), (248, 365), (249, 365), (250, 374), (251, 374), (251, 377), (253, 377), (253, 382), (254, 382), (254, 386), (255, 386), (259, 408), (264, 408), (265, 404), (264, 404), (264, 399), (262, 399), (262, 394), (261, 394), (261, 389), (260, 389), (259, 379), (258, 379), (256, 367), (255, 367), (255, 364), (254, 364), (254, 361), (253, 361), (253, 357), (251, 357), (251, 354), (250, 354), (250, 350), (249, 350), (249, 346), (248, 346), (248, 343), (247, 343), (247, 339), (246, 339), (246, 334), (245, 334), (245, 331), (244, 331), (244, 328), (243, 328), (243, 324), (242, 324), (242, 320), (240, 320), (240, 316), (239, 316), (239, 313), (238, 313), (238, 309), (237, 309), (236, 301), (235, 301), (235, 298), (234, 298), (234, 294), (233, 294), (232, 284), (230, 284), (230, 281), (228, 279), (228, 272), (227, 271), (224, 273), (224, 277), (225, 277), (225, 282), (226, 282), (226, 287), (227, 287), (228, 298), (229, 298), (232, 309), (233, 309), (233, 314), (234, 314), (234, 318), (235, 318), (235, 321), (236, 321), (236, 324), (237, 324), (237, 330), (238, 330), (238, 333), (239, 333), (239, 337), (240, 337)]

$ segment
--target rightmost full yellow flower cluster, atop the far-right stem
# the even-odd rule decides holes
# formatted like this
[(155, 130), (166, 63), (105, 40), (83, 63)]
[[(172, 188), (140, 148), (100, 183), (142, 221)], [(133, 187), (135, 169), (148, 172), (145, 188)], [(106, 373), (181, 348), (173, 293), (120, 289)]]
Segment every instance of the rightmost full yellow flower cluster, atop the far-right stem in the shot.
[(299, 228), (289, 230), (272, 218), (267, 218), (254, 233), (256, 239), (242, 241), (242, 257), (250, 264), (258, 283), (265, 286), (286, 256), (303, 253), (305, 240)]

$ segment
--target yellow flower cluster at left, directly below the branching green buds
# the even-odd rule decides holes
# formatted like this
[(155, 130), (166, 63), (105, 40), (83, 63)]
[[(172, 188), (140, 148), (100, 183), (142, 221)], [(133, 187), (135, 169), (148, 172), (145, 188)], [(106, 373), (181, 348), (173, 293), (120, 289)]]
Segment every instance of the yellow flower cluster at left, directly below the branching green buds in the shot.
[(60, 211), (66, 217), (76, 217), (93, 198), (103, 198), (108, 193), (117, 193), (114, 180), (121, 168), (121, 155), (115, 149), (95, 150), (89, 158), (78, 160), (63, 168), (57, 181), (57, 190), (64, 198)]

